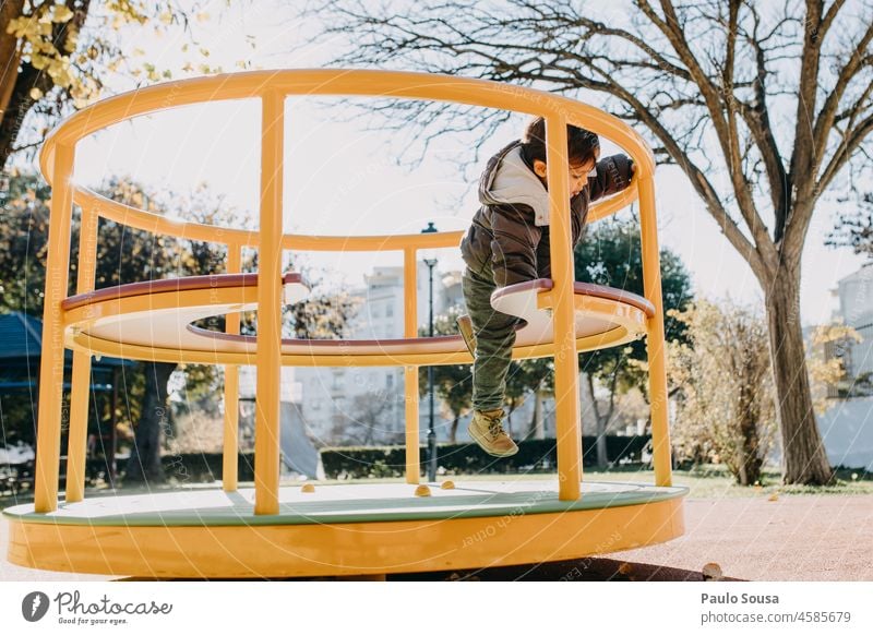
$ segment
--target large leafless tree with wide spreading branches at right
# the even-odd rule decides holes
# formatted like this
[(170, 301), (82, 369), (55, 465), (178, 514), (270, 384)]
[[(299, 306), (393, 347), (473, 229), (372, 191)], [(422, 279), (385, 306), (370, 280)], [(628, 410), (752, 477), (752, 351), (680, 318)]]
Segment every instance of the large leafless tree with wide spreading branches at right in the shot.
[[(307, 16), (321, 24), (319, 41), (348, 41), (337, 65), (483, 77), (583, 99), (600, 93), (610, 110), (645, 127), (764, 291), (785, 481), (830, 480), (803, 356), (800, 264), (822, 193), (850, 158), (870, 156), (870, 1), (634, 0), (605, 9), (575, 0), (331, 0)], [(446, 129), (481, 133), (483, 118), (505, 118), (420, 103), (386, 112), (398, 129), (422, 123), (426, 140)]]

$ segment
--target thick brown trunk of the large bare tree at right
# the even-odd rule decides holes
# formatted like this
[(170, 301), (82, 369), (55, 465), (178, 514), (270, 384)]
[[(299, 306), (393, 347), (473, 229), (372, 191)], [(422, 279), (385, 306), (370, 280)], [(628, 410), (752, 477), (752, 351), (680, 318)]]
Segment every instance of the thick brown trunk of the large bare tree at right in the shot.
[(775, 279), (762, 286), (782, 442), (782, 481), (821, 486), (830, 482), (833, 471), (815, 422), (806, 374), (799, 268), (778, 265)]

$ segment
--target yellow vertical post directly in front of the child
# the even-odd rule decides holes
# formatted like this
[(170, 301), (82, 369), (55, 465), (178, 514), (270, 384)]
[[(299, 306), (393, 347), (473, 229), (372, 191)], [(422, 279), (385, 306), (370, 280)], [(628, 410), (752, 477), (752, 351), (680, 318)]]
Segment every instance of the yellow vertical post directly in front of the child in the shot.
[(554, 288), (554, 400), (558, 435), (558, 498), (579, 498), (582, 434), (579, 434), (578, 359), (576, 312), (573, 298), (573, 235), (570, 218), (570, 170), (567, 169), (566, 120), (552, 115), (546, 120), (549, 181), (549, 223)]

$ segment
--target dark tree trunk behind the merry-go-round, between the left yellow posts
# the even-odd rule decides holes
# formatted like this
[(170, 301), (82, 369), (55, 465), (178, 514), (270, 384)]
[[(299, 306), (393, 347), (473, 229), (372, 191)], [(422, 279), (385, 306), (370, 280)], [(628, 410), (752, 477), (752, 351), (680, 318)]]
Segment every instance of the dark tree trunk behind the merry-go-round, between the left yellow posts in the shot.
[(128, 459), (124, 482), (158, 483), (164, 480), (160, 466), (160, 432), (170, 424), (167, 382), (175, 363), (145, 363), (145, 395), (140, 423), (134, 434), (133, 452)]

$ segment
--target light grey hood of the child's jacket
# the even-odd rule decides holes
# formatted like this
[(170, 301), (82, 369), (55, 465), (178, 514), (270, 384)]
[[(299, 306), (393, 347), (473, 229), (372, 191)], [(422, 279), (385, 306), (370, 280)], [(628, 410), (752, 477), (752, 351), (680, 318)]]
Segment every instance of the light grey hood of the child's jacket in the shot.
[(528, 205), (534, 209), (537, 226), (549, 224), (549, 192), (522, 157), (518, 141), (488, 161), (479, 181), (479, 202), (483, 205)]

